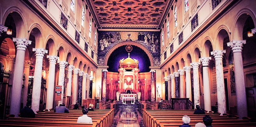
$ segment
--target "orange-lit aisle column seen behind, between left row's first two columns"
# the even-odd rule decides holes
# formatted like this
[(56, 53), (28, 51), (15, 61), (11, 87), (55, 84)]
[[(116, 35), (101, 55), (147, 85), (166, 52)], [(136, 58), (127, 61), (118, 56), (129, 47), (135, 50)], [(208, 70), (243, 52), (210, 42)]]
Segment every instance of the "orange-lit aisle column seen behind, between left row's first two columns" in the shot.
[(23, 107), (26, 105), (27, 102), (27, 91), (28, 91), (28, 80), (29, 80), (29, 71), (30, 71), (30, 65), (31, 62), (26, 60), (25, 66), (24, 66), (24, 73), (25, 73), (25, 81), (24, 81), (24, 87), (23, 87)]

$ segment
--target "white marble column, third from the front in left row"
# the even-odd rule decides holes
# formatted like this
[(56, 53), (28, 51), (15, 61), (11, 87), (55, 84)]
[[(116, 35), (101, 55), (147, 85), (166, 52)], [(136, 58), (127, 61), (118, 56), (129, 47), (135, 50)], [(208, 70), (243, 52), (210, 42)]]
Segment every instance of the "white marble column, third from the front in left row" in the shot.
[(53, 108), (53, 96), (54, 96), (54, 82), (55, 82), (55, 64), (59, 60), (58, 56), (47, 55), (49, 59), (49, 74), (47, 80), (47, 93), (46, 93), (46, 105), (45, 109)]

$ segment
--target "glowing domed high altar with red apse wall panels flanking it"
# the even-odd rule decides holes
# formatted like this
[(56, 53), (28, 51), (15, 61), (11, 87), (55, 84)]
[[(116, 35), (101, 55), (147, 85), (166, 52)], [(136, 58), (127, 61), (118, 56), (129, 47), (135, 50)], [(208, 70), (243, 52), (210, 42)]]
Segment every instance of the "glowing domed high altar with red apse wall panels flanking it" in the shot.
[(122, 101), (123, 97), (129, 100), (150, 100), (150, 72), (139, 73), (139, 61), (130, 58), (130, 53), (128, 58), (119, 60), (118, 72), (107, 72), (107, 100)]

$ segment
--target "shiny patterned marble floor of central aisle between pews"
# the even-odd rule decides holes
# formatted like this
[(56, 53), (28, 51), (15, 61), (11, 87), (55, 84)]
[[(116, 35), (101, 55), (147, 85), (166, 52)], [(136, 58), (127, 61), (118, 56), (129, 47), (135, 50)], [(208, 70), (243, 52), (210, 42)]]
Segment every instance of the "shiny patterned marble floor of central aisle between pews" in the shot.
[(136, 108), (119, 108), (112, 127), (144, 127), (142, 115)]

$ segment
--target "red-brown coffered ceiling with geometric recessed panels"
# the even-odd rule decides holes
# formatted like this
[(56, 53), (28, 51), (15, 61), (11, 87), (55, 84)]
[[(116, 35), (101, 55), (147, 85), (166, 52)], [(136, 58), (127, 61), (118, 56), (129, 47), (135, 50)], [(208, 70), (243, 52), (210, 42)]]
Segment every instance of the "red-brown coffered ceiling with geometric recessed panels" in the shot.
[(159, 29), (172, 0), (87, 0), (99, 28)]

